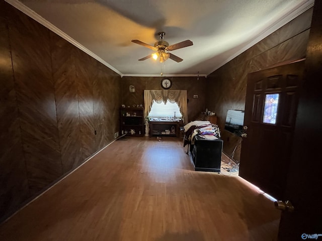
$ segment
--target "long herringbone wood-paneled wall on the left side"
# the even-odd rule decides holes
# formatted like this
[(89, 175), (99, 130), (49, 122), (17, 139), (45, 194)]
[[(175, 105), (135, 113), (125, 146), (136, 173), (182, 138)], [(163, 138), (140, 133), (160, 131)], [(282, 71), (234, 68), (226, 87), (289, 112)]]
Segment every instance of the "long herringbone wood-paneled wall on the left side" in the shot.
[(121, 77), (3, 0), (0, 56), (1, 221), (114, 139)]

